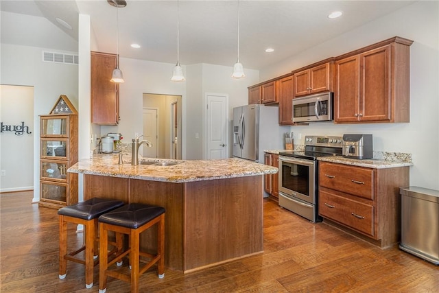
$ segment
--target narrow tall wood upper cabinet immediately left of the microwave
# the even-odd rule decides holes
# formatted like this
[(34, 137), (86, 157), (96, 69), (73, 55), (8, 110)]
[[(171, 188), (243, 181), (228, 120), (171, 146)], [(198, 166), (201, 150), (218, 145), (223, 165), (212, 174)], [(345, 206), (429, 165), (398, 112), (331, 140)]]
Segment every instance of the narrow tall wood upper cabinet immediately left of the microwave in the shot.
[(279, 124), (293, 125), (294, 76), (289, 75), (278, 80)]

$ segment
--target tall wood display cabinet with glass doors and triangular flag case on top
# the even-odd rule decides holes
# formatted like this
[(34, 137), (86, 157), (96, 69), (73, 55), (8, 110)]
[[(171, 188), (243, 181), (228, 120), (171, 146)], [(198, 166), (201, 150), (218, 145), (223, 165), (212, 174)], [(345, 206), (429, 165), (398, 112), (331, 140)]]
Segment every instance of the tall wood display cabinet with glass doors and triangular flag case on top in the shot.
[[(78, 113), (62, 95), (51, 115), (40, 116), (40, 202), (59, 209), (78, 202)], [(67, 110), (69, 109), (69, 110)]]

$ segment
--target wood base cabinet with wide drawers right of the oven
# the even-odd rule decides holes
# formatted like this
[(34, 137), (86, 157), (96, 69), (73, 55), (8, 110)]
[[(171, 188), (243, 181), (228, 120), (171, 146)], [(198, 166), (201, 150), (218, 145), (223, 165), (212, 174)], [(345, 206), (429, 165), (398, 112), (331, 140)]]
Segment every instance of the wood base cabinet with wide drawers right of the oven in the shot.
[[(319, 161), (319, 215), (385, 248), (399, 242), (399, 187), (409, 167), (372, 169)], [(347, 228), (347, 229), (346, 229)]]

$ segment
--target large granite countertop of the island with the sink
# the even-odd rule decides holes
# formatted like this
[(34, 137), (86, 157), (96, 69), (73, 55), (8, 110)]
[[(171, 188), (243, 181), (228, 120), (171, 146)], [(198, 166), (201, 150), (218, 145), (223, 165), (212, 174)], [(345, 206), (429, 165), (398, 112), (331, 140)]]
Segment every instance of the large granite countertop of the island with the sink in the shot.
[[(169, 160), (142, 159), (145, 161), (175, 162), (177, 165), (137, 165), (132, 166), (131, 158), (124, 156), (124, 163), (118, 165), (118, 154), (98, 154), (93, 159), (84, 159), (71, 166), (67, 172), (133, 178), (141, 180), (185, 183), (201, 180), (215, 180), (245, 176), (275, 174), (276, 167), (254, 163), (244, 159), (220, 160)], [(141, 159), (139, 159), (141, 161)]]

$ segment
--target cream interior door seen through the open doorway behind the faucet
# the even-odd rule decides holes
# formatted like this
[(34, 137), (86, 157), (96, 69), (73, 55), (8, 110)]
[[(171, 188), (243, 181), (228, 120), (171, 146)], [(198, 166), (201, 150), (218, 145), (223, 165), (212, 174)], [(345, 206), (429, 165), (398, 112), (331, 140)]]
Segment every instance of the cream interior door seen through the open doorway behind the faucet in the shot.
[(158, 137), (157, 137), (157, 109), (143, 108), (143, 139), (150, 141), (152, 147), (142, 145), (142, 156), (146, 158), (157, 158)]

